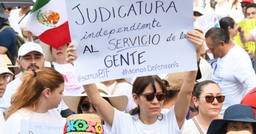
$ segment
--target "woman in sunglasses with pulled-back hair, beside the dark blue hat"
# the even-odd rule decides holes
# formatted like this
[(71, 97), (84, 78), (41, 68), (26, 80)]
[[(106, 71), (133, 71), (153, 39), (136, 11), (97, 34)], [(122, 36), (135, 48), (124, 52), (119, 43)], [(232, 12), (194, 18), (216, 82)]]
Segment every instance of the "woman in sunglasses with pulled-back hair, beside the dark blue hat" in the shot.
[(212, 80), (196, 83), (194, 89), (193, 101), (199, 113), (185, 122), (183, 134), (206, 134), (213, 120), (223, 119), (220, 112), (225, 96)]

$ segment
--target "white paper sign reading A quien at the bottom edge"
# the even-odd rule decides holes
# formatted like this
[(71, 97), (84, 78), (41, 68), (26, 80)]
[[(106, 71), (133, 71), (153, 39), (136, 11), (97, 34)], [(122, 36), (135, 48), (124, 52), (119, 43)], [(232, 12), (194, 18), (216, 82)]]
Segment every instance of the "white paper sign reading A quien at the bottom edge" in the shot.
[(50, 124), (21, 120), (20, 134), (63, 134), (65, 124)]

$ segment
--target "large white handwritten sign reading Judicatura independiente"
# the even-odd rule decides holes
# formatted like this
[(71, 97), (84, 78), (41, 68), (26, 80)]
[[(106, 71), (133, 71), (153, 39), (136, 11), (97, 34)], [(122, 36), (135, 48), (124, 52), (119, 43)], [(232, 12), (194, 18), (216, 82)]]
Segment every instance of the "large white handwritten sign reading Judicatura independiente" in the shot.
[(191, 0), (66, 0), (79, 85), (197, 70)]

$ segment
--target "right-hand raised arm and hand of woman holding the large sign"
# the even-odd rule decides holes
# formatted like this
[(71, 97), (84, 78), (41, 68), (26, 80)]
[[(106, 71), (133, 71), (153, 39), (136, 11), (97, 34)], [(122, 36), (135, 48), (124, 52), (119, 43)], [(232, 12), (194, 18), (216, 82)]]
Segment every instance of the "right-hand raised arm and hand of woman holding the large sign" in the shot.
[[(195, 32), (188, 32), (187, 36), (191, 42), (195, 43), (197, 61), (199, 61), (200, 51), (202, 49), (203, 42), (205, 40), (204, 35), (199, 31), (195, 30)], [(196, 81), (196, 76), (197, 76), (197, 70), (187, 72), (184, 82), (182, 84), (182, 87), (180, 89), (180, 92), (178, 94), (177, 101), (175, 103), (174, 111), (175, 111), (176, 120), (180, 129), (187, 115), (190, 97), (193, 91), (194, 83)]]

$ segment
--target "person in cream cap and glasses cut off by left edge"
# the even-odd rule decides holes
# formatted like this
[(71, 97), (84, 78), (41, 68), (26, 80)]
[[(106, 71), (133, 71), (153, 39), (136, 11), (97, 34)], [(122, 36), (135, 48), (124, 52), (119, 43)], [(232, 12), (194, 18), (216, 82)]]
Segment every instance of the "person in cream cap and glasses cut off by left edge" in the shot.
[[(3, 97), (10, 77), (14, 75), (7, 67), (4, 59), (0, 57), (0, 98)], [(0, 112), (0, 134), (4, 134), (5, 120), (3, 113)]]

